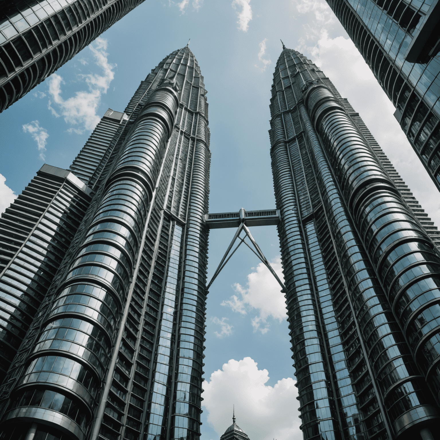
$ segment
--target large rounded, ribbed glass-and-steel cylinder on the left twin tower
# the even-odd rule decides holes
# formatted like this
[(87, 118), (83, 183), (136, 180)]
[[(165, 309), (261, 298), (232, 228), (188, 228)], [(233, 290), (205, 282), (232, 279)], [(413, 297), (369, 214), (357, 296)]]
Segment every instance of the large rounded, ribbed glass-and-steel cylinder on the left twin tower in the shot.
[[(165, 84), (140, 112), (42, 325), (5, 421), (42, 419), (79, 440), (86, 438), (178, 106), (176, 92)], [(106, 231), (110, 234), (103, 236)]]

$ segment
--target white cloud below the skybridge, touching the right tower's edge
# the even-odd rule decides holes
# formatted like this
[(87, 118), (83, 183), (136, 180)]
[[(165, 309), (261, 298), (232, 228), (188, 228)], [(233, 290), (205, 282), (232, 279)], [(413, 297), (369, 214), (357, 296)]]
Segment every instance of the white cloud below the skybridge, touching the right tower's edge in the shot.
[[(281, 258), (272, 260), (271, 266), (282, 280)], [(269, 316), (278, 319), (279, 322), (286, 319), (284, 295), (281, 293), (281, 287), (275, 277), (263, 263), (258, 264), (256, 271), (250, 273), (247, 278), (247, 288), (235, 283), (234, 289), (238, 296), (232, 295), (221, 305), (230, 307), (234, 312), (242, 315), (254, 312), (253, 309), (256, 309), (257, 315), (252, 319), (253, 331), (260, 330), (264, 334), (269, 331), (269, 323), (267, 322)]]

